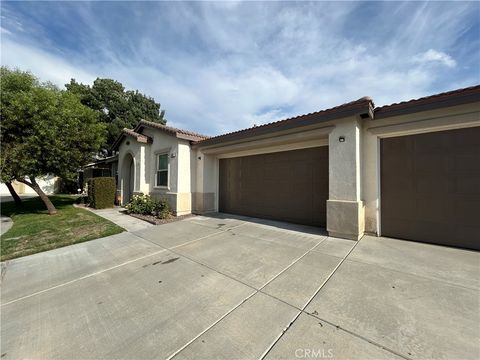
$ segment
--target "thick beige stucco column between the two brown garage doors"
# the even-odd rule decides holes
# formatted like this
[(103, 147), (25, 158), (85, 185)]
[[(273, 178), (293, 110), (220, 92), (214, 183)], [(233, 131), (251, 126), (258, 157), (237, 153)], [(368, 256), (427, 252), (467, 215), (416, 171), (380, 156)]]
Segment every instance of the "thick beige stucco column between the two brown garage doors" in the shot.
[(361, 129), (357, 119), (338, 122), (328, 141), (327, 231), (330, 236), (357, 240), (364, 232), (364, 205), (360, 200)]

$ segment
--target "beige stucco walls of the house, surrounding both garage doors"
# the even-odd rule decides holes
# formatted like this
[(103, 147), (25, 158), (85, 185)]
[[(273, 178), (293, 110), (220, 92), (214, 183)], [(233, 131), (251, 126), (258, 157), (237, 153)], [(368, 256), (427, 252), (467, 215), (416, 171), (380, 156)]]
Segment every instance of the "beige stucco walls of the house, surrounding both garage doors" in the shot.
[[(351, 116), (274, 136), (193, 149), (186, 140), (146, 128), (144, 133), (154, 139), (152, 144), (127, 138), (120, 145), (119, 179), (125, 154), (131, 153), (135, 191), (167, 198), (179, 215), (214, 212), (218, 211), (219, 159), (329, 146), (327, 231), (331, 236), (358, 239), (364, 232), (381, 234), (380, 139), (467, 126), (480, 126), (480, 104), (378, 120)], [(344, 142), (339, 141), (341, 136)], [(126, 140), (130, 145), (126, 146)], [(157, 188), (155, 155), (164, 151), (169, 153), (169, 186)]]

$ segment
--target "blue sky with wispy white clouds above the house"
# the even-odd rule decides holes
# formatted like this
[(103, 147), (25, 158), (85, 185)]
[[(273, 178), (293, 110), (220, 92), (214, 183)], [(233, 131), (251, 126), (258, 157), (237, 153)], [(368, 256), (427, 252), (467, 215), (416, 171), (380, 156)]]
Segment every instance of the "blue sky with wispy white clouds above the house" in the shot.
[(207, 135), (480, 83), (479, 2), (1, 2), (1, 63), (122, 82)]

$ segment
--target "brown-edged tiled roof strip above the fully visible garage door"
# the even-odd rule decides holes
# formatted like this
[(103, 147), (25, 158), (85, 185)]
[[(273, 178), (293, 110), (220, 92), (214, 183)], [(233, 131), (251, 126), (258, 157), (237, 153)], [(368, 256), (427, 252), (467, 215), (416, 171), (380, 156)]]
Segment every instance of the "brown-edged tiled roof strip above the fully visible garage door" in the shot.
[(305, 115), (299, 115), (292, 118), (271, 122), (251, 128), (230, 132), (223, 135), (214, 136), (205, 140), (195, 142), (195, 145), (206, 146), (214, 145), (224, 141), (235, 141), (251, 136), (268, 134), (274, 131), (288, 130), (300, 126), (308, 126), (318, 122), (329, 121), (350, 115), (360, 114), (373, 116), (373, 101), (368, 96), (361, 99), (335, 106), (333, 108), (312, 112)]

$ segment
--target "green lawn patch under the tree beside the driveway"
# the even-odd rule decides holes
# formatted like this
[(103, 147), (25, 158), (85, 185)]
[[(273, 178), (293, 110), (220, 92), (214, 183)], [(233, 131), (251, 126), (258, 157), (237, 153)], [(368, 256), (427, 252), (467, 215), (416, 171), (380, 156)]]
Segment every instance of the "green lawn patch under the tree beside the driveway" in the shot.
[(82, 241), (118, 234), (124, 229), (94, 213), (73, 206), (76, 196), (50, 196), (58, 210), (48, 215), (40, 198), (1, 204), (0, 213), (13, 219), (13, 226), (0, 237), (0, 260), (8, 260)]

